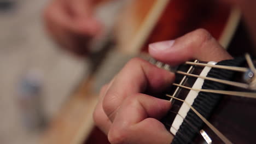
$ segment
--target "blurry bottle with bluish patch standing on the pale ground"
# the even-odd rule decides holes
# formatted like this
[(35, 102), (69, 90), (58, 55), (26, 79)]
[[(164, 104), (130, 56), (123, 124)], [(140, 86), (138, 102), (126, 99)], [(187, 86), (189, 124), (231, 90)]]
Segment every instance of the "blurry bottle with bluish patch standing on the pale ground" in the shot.
[(30, 131), (42, 130), (46, 124), (42, 105), (43, 76), (40, 72), (28, 70), (18, 84), (21, 121)]

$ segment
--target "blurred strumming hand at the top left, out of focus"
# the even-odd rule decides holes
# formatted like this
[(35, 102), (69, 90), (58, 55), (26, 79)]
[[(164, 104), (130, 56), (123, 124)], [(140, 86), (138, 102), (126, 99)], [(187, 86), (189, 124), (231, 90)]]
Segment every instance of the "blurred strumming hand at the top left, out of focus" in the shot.
[(101, 32), (92, 16), (93, 0), (53, 0), (44, 11), (46, 28), (62, 48), (84, 56), (88, 42)]

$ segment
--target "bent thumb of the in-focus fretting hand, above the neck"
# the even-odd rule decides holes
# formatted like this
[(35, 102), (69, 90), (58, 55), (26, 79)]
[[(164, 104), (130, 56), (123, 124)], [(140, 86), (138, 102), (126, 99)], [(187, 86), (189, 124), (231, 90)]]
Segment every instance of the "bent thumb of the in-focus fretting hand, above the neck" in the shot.
[(232, 58), (205, 29), (197, 29), (176, 40), (151, 44), (149, 53), (171, 65), (191, 59), (218, 62)]

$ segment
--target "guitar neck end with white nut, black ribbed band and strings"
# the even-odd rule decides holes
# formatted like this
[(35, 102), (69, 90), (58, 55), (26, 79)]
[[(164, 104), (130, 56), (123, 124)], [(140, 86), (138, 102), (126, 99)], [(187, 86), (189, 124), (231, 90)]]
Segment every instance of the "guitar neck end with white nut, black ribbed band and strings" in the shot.
[[(202, 62), (196, 63), (201, 64)], [(245, 139), (234, 133), (234, 131), (228, 130), (228, 128), (234, 129), (232, 127), (235, 125), (232, 126), (232, 124), (236, 124), (236, 127), (239, 127), (239, 129), (251, 131), (245, 128), (246, 117), (249, 115), (245, 113), (246, 108), (241, 108), (243, 110), (237, 111), (240, 114), (243, 112), (241, 115), (244, 115), (244, 117), (237, 121), (231, 118), (234, 117), (234, 113), (230, 113), (237, 106), (236, 102), (234, 103), (237, 100), (240, 100), (239, 105), (246, 105), (248, 100), (250, 100), (251, 103), (248, 105), (252, 109), (256, 108), (256, 93), (248, 89), (249, 84), (245, 84), (248, 86), (243, 87), (242, 85), (233, 85), (234, 82), (230, 81), (234, 80), (234, 77), (236, 79), (243, 77), (242, 75), (247, 74), (246, 71), (248, 70), (241, 73), (236, 72), (240, 71), (239, 69), (236, 70), (232, 67), (211, 68), (218, 67), (219, 65), (240, 67), (245, 65), (245, 63), (245, 57), (239, 57), (217, 64), (208, 62), (207, 65), (209, 66), (207, 67), (195, 66), (197, 64), (181, 65), (179, 67), (178, 71), (184, 71), (185, 73), (178, 73), (177, 71), (174, 86), (168, 90), (168, 94), (163, 95), (164, 99), (172, 101), (172, 109), (162, 119), (167, 130), (170, 130), (170, 133), (175, 135), (172, 143), (180, 143), (181, 141), (182, 143), (252, 142), (251, 134), (246, 136), (247, 138)], [(211, 77), (211, 79), (207, 79), (207, 77)], [(225, 81), (231, 83), (226, 83)], [(217, 91), (214, 91), (214, 89)], [(233, 93), (233, 91), (237, 92)], [(232, 109), (230, 109), (231, 107)], [(216, 109), (218, 109), (218, 112), (216, 112)], [(210, 118), (210, 121), (207, 121), (207, 118)], [(232, 124), (226, 126), (224, 123), (219, 123), (225, 121), (230, 121)]]

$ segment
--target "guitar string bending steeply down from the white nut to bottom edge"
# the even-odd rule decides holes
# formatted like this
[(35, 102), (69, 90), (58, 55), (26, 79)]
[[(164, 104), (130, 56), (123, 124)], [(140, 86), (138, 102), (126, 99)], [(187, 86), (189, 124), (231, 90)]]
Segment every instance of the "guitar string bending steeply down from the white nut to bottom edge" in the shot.
[(173, 98), (173, 99), (176, 99), (176, 100), (179, 100), (179, 101), (182, 101), (183, 103), (187, 104), (187, 105), (190, 107), (190, 109), (193, 110), (193, 111), (196, 113), (196, 115), (197, 115), (198, 117), (200, 117), (200, 119), (201, 119), (203, 122), (205, 122), (205, 124), (206, 124), (206, 125), (224, 142), (224, 143), (231, 144), (231, 142), (229, 141), (229, 139), (227, 139), (222, 133), (220, 133), (220, 131), (219, 131), (217, 128), (215, 128), (210, 122), (208, 122), (207, 119), (206, 119), (205, 117), (203, 117), (198, 111), (196, 111), (193, 106), (189, 105), (189, 104), (187, 103), (187, 101), (182, 100), (182, 99), (179, 99), (179, 98), (176, 98), (176, 97), (173, 97), (172, 95), (169, 95), (169, 94), (166, 94), (166, 96), (167, 96), (167, 97), (170, 97), (170, 98)]

